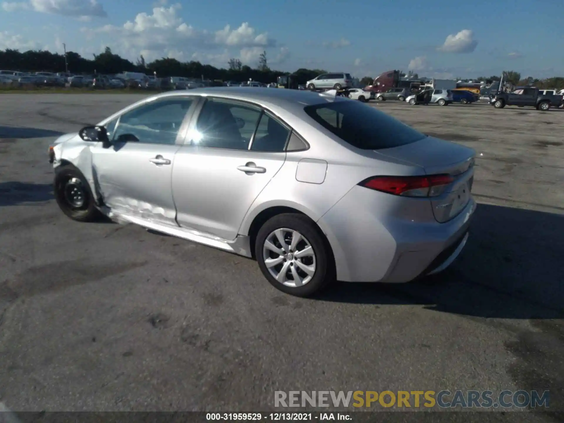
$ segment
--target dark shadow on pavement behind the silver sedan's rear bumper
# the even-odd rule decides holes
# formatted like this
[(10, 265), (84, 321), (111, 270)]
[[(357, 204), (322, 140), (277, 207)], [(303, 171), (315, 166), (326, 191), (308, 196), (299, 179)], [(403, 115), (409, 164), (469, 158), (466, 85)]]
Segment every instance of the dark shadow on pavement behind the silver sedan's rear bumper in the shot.
[(564, 215), (479, 204), (465, 249), (441, 274), (408, 284), (337, 283), (321, 301), (418, 304), (505, 319), (564, 318)]

